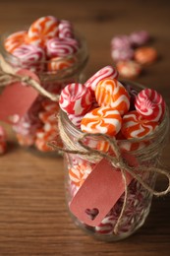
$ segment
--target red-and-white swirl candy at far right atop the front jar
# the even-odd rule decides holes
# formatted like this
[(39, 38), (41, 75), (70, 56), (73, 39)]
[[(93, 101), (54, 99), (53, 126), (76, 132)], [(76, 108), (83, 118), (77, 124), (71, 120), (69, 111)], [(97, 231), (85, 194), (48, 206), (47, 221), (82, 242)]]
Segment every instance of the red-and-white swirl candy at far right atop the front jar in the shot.
[(135, 107), (143, 118), (159, 121), (165, 112), (165, 100), (152, 89), (143, 89), (136, 96)]

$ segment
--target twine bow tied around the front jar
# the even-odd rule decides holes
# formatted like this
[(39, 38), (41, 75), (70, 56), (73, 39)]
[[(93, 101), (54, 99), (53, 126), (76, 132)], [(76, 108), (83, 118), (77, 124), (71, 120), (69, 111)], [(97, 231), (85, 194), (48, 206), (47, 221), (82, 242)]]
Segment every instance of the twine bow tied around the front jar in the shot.
[[(62, 140), (66, 143), (66, 145), (69, 145), (69, 149), (58, 147), (55, 142), (48, 143), (48, 145), (50, 147), (52, 147), (54, 150), (68, 153), (68, 154), (83, 155), (86, 157), (90, 157), (95, 161), (98, 159), (104, 158), (105, 160), (108, 160), (112, 164), (112, 166), (114, 166), (114, 168), (116, 167), (116, 168), (120, 169), (120, 171), (122, 173), (123, 181), (124, 181), (124, 186), (125, 186), (125, 197), (124, 197), (123, 206), (121, 209), (120, 216), (119, 216), (117, 223), (115, 224), (115, 227), (114, 227), (115, 233), (118, 232), (118, 228), (119, 228), (119, 225), (121, 224), (123, 214), (124, 214), (124, 211), (125, 211), (126, 205), (127, 205), (127, 198), (128, 198), (128, 186), (127, 186), (127, 176), (126, 176), (127, 172), (130, 173), (134, 179), (138, 180), (138, 182), (140, 182), (142, 184), (143, 188), (146, 189), (147, 191), (149, 191), (149, 193), (151, 193), (152, 195), (159, 197), (159, 196), (166, 195), (168, 192), (170, 192), (170, 173), (167, 170), (164, 170), (162, 168), (155, 167), (155, 166), (147, 166), (146, 167), (146, 171), (162, 174), (168, 179), (168, 186), (166, 189), (164, 189), (162, 191), (157, 191), (157, 190), (152, 189), (146, 182), (144, 182), (142, 180), (142, 177), (139, 174), (137, 174), (137, 172), (139, 172), (139, 171), (140, 172), (145, 171), (145, 166), (142, 164), (141, 165), (138, 164), (138, 166), (130, 166), (128, 161), (122, 157), (121, 150), (120, 150), (119, 146), (117, 145), (117, 141), (114, 137), (109, 137), (105, 134), (100, 134), (100, 133), (97, 133), (97, 134), (84, 133), (80, 138), (77, 139), (77, 143), (78, 143), (77, 148), (79, 148), (79, 149), (76, 149), (76, 147), (75, 147), (76, 142), (73, 143), (68, 138), (67, 134), (65, 133), (60, 116), (58, 116), (58, 125), (59, 125), (60, 136), (61, 136)], [(102, 140), (106, 141), (109, 144), (110, 148), (112, 149), (114, 155), (111, 156), (108, 153), (92, 149), (91, 147), (85, 145), (85, 138), (88, 138), (88, 139), (96, 138), (99, 140), (102, 139)], [(82, 148), (83, 150), (80, 150), (80, 148)]]

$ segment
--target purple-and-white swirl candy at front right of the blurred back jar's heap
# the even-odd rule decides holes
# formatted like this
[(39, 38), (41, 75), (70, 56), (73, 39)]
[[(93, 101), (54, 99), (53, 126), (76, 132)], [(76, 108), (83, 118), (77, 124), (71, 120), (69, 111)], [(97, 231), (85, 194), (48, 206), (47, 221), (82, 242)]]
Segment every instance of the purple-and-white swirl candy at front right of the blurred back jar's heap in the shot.
[(66, 57), (74, 54), (78, 49), (78, 41), (72, 38), (52, 38), (46, 43), (46, 51), (49, 58)]

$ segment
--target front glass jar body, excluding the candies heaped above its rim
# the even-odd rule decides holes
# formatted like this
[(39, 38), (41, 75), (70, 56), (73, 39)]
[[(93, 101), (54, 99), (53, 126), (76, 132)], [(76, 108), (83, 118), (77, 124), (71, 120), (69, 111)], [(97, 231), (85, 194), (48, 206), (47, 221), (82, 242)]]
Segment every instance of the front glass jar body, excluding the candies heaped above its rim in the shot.
[[(143, 89), (143, 87), (138, 84), (132, 82), (128, 82), (128, 84), (139, 92)], [(64, 165), (66, 171), (65, 189), (68, 210), (74, 223), (83, 228), (88, 234), (104, 241), (117, 241), (130, 236), (139, 229), (142, 224), (144, 224), (150, 210), (153, 193), (150, 193), (149, 190), (154, 189), (157, 176), (157, 172), (154, 171), (154, 168), (158, 168), (159, 166), (161, 153), (167, 143), (167, 137), (169, 134), (168, 109), (166, 109), (160, 125), (149, 136), (136, 140), (116, 141), (116, 145), (122, 154), (123, 161), (127, 161), (129, 165), (133, 167), (133, 171), (142, 179), (142, 182), (140, 179), (133, 177), (129, 184), (125, 184), (126, 188), (123, 193), (120, 194), (117, 201), (113, 203), (111, 202), (109, 211), (101, 222), (96, 225), (86, 224), (82, 219), (80, 220), (78, 217), (79, 215), (77, 216), (75, 212), (73, 213), (73, 207), (71, 207), (71, 205), (73, 204), (76, 196), (77, 200), (80, 200), (78, 193), (83, 189), (85, 184), (84, 182), (88, 179), (88, 175), (96, 170), (96, 166), (101, 164), (106, 155), (96, 155), (95, 157), (92, 157), (92, 154), (90, 155), (90, 153), (79, 154), (79, 152), (85, 152), (85, 148), (82, 147), (78, 141), (79, 138), (84, 136), (84, 133), (71, 123), (67, 114), (62, 110), (60, 110), (59, 120), (60, 135), (66, 151), (68, 150), (68, 152), (64, 153)], [(91, 135), (89, 138), (86, 137), (84, 144), (96, 150), (98, 142), (101, 143), (101, 138)], [(115, 157), (113, 152), (107, 154)], [(124, 158), (124, 156), (126, 156), (126, 158)], [(119, 162), (117, 162), (115, 166), (116, 168), (113, 167), (112, 170), (120, 170), (121, 167), (117, 169), (118, 166)], [(106, 168), (106, 166), (102, 165), (102, 168)], [(101, 171), (101, 169), (97, 169), (97, 171)], [(107, 171), (105, 173), (107, 173)], [(90, 176), (91, 175), (89, 175), (89, 177)], [(91, 177), (90, 180), (92, 180)], [(90, 182), (88, 182), (88, 184), (86, 183), (86, 186), (89, 186)], [(85, 197), (87, 198), (83, 198), (85, 199), (85, 202), (90, 202), (90, 197), (94, 197), (94, 193), (96, 194), (96, 191), (99, 191), (98, 197), (101, 197), (100, 203), (105, 205), (105, 202), (109, 200), (108, 196), (105, 198), (102, 197), (102, 193), (104, 192), (100, 192), (100, 187), (97, 188), (97, 186), (100, 185), (97, 183), (95, 184), (94, 177), (93, 182), (94, 183), (92, 185), (90, 183), (91, 187), (89, 193), (84, 188), (84, 192), (82, 192), (81, 196), (86, 193)], [(143, 186), (143, 183), (146, 186)], [(101, 186), (101, 190), (108, 189), (107, 183), (104, 184), (104, 188), (103, 185)], [(147, 186), (150, 189), (148, 189)], [(113, 193), (115, 189), (119, 190), (119, 184), (115, 183)], [(112, 187), (110, 190), (112, 193)], [(95, 195), (95, 200), (98, 200), (97, 195)], [(82, 202), (80, 205), (77, 203), (77, 208), (81, 207)], [(84, 210), (90, 221), (95, 219), (97, 214), (100, 212), (100, 209), (98, 211), (97, 208), (86, 208)]]

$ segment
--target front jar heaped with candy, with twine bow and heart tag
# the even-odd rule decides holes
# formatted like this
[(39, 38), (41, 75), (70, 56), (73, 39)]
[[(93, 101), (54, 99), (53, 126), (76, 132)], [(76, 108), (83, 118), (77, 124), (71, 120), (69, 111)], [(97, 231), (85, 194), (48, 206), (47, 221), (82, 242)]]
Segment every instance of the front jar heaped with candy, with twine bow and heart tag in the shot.
[(95, 238), (124, 239), (144, 224), (152, 196), (169, 192), (154, 190), (158, 173), (170, 179), (159, 166), (169, 133), (165, 101), (106, 66), (84, 85), (65, 87), (59, 104), (70, 215)]

